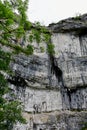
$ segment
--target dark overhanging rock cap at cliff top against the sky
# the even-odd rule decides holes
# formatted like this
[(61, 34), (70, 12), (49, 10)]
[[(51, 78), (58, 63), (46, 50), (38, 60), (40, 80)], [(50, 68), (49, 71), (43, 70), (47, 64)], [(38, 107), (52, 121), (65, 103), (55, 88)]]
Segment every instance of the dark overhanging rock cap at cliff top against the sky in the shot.
[(55, 23), (50, 24), (49, 28), (54, 33), (73, 32), (73, 31), (78, 32), (78, 34), (80, 32), (81, 34), (87, 33), (87, 14), (61, 20), (56, 24)]

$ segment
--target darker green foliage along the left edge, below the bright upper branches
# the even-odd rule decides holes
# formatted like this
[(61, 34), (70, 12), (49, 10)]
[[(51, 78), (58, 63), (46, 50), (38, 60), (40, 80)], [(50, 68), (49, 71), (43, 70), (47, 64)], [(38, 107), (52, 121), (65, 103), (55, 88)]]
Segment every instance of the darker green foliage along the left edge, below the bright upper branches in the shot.
[[(10, 58), (10, 53), (5, 53), (0, 49), (0, 70), (9, 70)], [(8, 93), (10, 95), (7, 80), (0, 71), (0, 130), (12, 130), (13, 125), (18, 121), (25, 123), (25, 119), (22, 117), (21, 104), (15, 99), (10, 101), (4, 98), (5, 94)]]

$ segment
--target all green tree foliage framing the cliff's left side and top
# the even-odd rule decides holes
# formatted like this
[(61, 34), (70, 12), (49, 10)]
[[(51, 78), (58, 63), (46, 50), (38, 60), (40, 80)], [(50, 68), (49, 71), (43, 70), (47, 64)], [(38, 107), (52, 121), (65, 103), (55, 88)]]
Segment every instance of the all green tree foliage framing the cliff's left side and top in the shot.
[[(9, 63), (12, 55), (33, 54), (33, 41), (38, 45), (44, 41), (47, 44), (48, 54), (54, 54), (54, 46), (50, 42), (51, 33), (39, 22), (35, 24), (29, 22), (26, 16), (27, 9), (28, 0), (0, 0), (0, 44), (12, 50), (11, 53), (7, 53), (0, 48), (0, 130), (12, 130), (17, 122), (26, 123), (22, 117), (21, 104), (15, 99), (15, 95), (12, 96), (10, 93), (5, 77), (6, 73), (10, 75)], [(26, 41), (30, 44), (22, 47), (21, 43)], [(44, 52), (43, 47), (40, 49)], [(6, 95), (9, 95), (11, 100), (5, 98)]]

